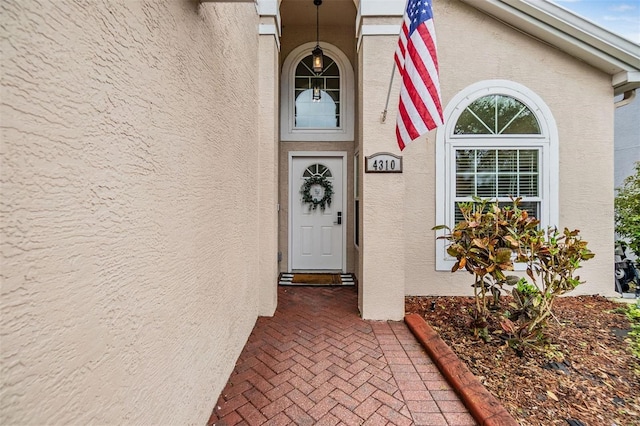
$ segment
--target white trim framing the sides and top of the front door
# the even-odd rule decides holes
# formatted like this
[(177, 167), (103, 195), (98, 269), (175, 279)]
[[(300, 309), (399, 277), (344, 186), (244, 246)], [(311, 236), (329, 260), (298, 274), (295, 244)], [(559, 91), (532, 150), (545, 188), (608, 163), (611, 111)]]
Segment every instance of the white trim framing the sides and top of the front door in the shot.
[(287, 241), (289, 243), (289, 247), (287, 251), (289, 255), (287, 256), (287, 271), (293, 272), (292, 259), (293, 259), (293, 209), (291, 206), (293, 205), (294, 193), (293, 193), (293, 159), (294, 157), (340, 157), (342, 158), (342, 272), (346, 273), (347, 271), (347, 151), (289, 151), (289, 200), (287, 208), (288, 212), (288, 237)]

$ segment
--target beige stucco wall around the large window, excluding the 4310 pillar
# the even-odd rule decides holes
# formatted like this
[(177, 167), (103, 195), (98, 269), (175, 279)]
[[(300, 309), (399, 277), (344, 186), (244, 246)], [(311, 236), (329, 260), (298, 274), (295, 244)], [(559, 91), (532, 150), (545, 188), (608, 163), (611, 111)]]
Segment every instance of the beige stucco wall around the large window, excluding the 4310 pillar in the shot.
[[(528, 87), (551, 109), (560, 139), (558, 225), (580, 229), (596, 253), (580, 270), (586, 284), (572, 294), (613, 295), (610, 77), (458, 1), (434, 2), (434, 16), (444, 105), (477, 81), (505, 79)], [(472, 294), (470, 275), (435, 272), (435, 132), (403, 155), (405, 292)]]

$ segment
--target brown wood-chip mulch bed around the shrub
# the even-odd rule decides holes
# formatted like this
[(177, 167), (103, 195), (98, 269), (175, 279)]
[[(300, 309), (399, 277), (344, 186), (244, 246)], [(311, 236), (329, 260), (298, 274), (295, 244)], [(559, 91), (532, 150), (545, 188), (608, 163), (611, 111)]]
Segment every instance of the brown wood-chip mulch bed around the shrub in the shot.
[(640, 425), (640, 363), (625, 341), (625, 304), (601, 296), (559, 298), (549, 345), (518, 354), (499, 334), (489, 343), (473, 337), (473, 303), (471, 297), (407, 297), (405, 310), (422, 315), (521, 425)]

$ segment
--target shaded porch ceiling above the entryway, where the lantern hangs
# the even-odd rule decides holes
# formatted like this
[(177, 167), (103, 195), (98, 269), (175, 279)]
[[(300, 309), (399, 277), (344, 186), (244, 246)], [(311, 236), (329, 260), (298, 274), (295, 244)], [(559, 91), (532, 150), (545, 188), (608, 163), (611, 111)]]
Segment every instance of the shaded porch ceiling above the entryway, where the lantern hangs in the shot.
[[(322, 0), (319, 9), (320, 26), (355, 26), (356, 6), (353, 0)], [(316, 6), (313, 0), (282, 0), (282, 26), (316, 25)]]

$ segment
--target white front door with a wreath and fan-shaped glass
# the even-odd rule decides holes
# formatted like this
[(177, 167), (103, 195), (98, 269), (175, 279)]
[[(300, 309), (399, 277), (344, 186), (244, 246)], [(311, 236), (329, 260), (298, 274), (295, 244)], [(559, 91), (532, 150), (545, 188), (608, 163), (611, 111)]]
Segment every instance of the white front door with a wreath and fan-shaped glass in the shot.
[[(296, 156), (292, 154), (290, 162), (290, 227), (289, 259), (290, 270), (335, 271), (344, 272), (344, 229), (345, 211), (343, 210), (343, 156)], [(301, 190), (310, 178), (321, 181), (308, 188), (307, 194), (316, 203), (331, 187), (331, 204), (304, 202)], [(325, 182), (328, 182), (327, 185)], [(308, 186), (308, 185), (307, 185)]]

